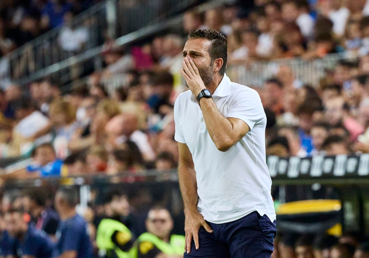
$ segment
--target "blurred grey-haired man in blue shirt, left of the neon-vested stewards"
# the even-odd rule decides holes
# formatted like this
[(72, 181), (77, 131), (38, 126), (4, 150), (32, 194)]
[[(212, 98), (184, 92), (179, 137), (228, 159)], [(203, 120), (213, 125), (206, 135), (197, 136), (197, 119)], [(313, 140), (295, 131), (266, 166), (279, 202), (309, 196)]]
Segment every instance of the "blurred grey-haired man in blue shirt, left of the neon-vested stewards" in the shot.
[(61, 223), (56, 231), (54, 257), (92, 258), (92, 244), (87, 233), (85, 219), (76, 214), (78, 193), (74, 188), (59, 188), (55, 196), (55, 208)]

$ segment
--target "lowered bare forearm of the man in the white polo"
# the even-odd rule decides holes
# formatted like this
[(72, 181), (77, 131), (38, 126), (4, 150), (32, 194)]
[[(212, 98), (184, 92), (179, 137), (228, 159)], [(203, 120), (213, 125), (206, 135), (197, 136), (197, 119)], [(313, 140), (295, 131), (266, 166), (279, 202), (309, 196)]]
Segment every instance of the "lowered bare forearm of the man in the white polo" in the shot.
[(197, 182), (194, 168), (184, 164), (178, 166), (179, 187), (182, 193), (184, 213), (197, 211)]

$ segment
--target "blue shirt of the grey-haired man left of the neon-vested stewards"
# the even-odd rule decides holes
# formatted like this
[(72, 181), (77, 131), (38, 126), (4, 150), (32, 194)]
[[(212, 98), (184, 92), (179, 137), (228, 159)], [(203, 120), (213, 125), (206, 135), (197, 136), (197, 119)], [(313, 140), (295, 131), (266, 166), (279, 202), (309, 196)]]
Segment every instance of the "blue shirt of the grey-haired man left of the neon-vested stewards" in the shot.
[(79, 215), (67, 220), (62, 220), (56, 231), (58, 243), (54, 251), (54, 257), (58, 257), (66, 251), (77, 251), (77, 258), (92, 258), (93, 250), (87, 223)]

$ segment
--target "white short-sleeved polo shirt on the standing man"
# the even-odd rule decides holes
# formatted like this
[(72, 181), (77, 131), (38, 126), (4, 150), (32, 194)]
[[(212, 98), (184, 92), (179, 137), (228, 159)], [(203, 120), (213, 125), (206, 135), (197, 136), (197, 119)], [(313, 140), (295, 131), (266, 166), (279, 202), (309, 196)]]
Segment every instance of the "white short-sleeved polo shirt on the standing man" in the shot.
[(266, 116), (259, 94), (224, 77), (213, 94), (225, 117), (242, 119), (250, 131), (227, 151), (215, 146), (200, 105), (192, 92), (180, 94), (174, 104), (175, 139), (192, 154), (197, 180), (197, 209), (205, 220), (226, 223), (257, 211), (275, 220), (265, 158)]

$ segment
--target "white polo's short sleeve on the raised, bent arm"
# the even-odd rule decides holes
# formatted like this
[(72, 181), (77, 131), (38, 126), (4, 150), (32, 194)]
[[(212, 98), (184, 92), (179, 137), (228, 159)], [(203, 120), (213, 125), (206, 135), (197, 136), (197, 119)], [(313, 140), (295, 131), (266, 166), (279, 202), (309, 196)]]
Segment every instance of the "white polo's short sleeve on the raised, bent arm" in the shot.
[(232, 97), (226, 117), (241, 119), (247, 123), (251, 131), (264, 116), (265, 112), (259, 94), (254, 90), (242, 89)]

